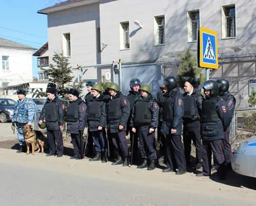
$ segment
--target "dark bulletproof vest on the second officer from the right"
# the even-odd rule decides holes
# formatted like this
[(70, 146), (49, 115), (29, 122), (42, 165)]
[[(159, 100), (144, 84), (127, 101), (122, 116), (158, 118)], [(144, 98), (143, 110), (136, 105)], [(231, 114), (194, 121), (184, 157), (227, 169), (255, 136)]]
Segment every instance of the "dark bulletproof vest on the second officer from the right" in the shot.
[(218, 116), (216, 109), (216, 101), (217, 97), (213, 97), (210, 99), (205, 99), (202, 104), (202, 122), (217, 122), (221, 121)]

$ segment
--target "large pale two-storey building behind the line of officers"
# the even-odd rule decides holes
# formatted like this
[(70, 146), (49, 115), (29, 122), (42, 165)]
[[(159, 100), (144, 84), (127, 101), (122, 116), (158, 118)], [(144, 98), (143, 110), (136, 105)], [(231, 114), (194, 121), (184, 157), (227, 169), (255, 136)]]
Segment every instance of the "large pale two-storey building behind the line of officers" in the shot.
[[(177, 74), (177, 54), (197, 49), (198, 27), (215, 30), (219, 69), (210, 79), (229, 80), (238, 108), (246, 109), (256, 79), (255, 6), (256, 0), (69, 0), (38, 13), (48, 15), (50, 63), (57, 52), (81, 66), (74, 82), (100, 82), (111, 72), (125, 94), (131, 78), (155, 94), (159, 79)], [(114, 72), (119, 58), (122, 68)]]

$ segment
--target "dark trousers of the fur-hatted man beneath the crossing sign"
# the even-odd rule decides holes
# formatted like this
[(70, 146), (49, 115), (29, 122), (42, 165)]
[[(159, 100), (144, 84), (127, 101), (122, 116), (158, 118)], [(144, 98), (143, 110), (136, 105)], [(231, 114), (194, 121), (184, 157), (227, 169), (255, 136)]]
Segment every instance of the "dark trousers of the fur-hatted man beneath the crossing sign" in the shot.
[(187, 164), (189, 164), (190, 162), (191, 141), (193, 141), (196, 147), (197, 163), (201, 163), (202, 162), (202, 142), (201, 142), (200, 128), (187, 127), (186, 125), (184, 125), (183, 126), (183, 143), (184, 143), (184, 152), (185, 152), (185, 158), (186, 158)]

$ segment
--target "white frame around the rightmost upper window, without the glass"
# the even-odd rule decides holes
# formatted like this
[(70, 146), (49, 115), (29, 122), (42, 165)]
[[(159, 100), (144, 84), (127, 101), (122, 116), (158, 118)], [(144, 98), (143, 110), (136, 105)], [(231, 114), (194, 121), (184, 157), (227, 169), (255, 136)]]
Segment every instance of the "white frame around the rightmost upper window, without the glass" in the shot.
[[(227, 16), (226, 16), (226, 9), (234, 7), (234, 36), (227, 36)], [(237, 11), (236, 11), (236, 5), (222, 5), (221, 6), (221, 38), (222, 39), (230, 39), (230, 38), (236, 38), (237, 36)]]

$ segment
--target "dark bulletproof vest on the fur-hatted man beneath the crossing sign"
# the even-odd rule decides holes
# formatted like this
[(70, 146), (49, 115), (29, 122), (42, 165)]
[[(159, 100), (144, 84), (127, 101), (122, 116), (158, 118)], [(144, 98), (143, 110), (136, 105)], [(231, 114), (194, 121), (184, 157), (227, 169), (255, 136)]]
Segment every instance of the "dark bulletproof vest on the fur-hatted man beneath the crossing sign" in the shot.
[(193, 119), (195, 115), (198, 115), (198, 109), (196, 105), (197, 95), (184, 96), (184, 115), (183, 118)]

